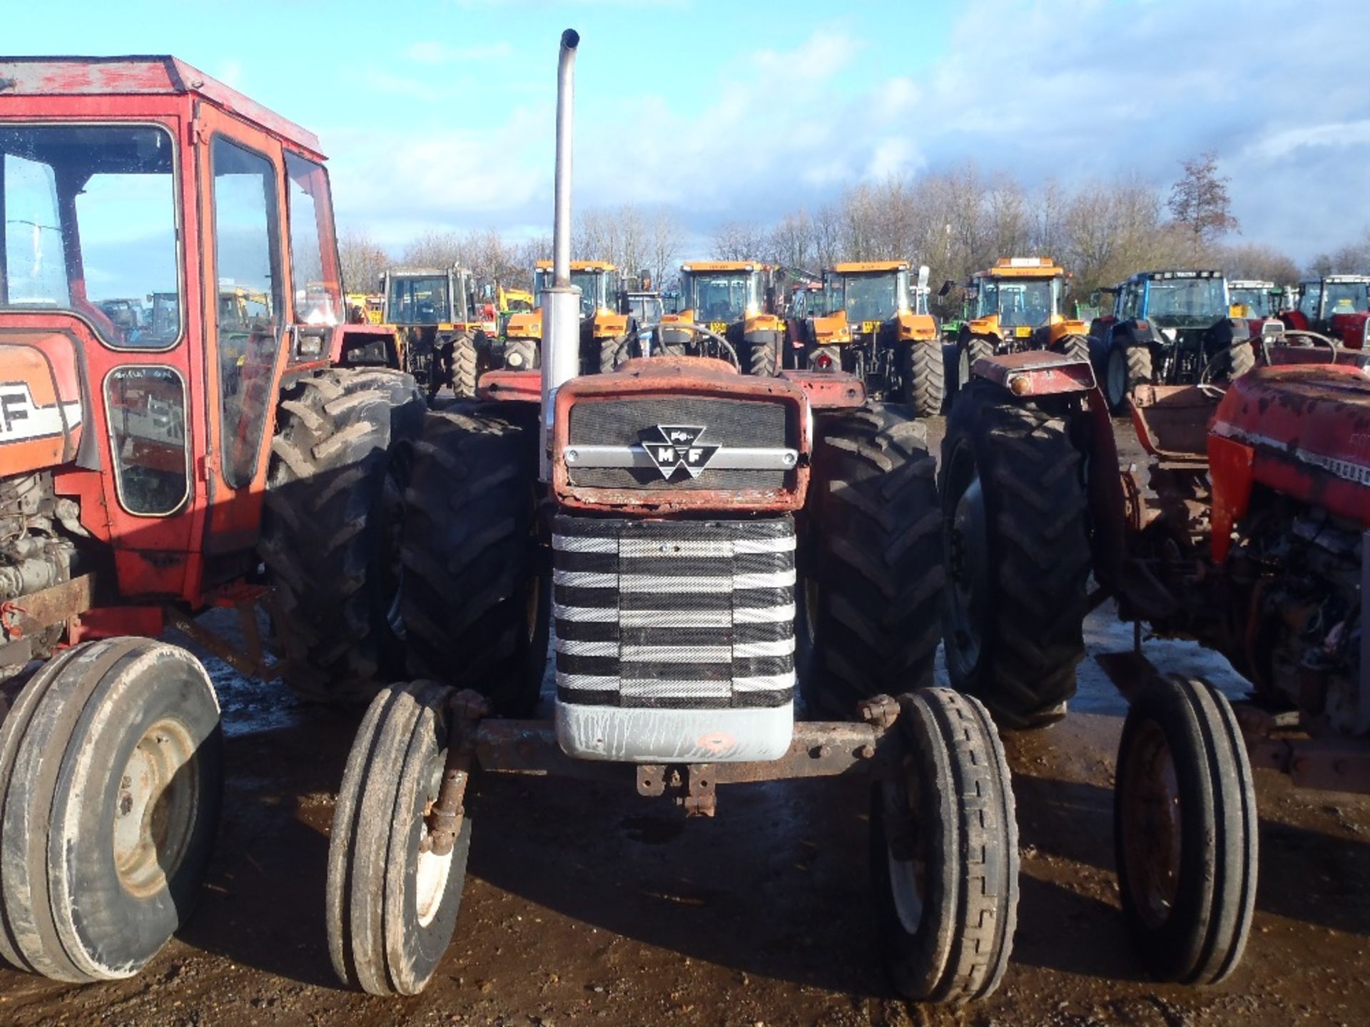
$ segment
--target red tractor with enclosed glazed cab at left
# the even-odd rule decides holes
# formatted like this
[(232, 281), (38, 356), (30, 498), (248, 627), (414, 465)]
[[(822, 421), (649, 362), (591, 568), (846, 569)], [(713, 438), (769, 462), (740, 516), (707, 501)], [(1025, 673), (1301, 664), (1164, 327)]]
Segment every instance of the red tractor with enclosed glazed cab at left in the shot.
[(397, 674), (423, 404), (342, 323), (318, 140), (173, 58), (0, 58), (0, 957), (122, 978), (193, 905), (222, 776), (210, 678), (158, 635), (260, 670), (192, 618), (253, 639), (275, 585), (300, 694)]

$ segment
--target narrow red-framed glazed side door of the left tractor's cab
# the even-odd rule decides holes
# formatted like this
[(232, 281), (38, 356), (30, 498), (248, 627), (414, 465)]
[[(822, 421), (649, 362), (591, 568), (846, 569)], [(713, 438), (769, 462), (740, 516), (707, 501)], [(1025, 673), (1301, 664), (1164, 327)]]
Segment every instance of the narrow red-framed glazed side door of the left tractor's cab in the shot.
[[(204, 246), (207, 422), (206, 553), (258, 541), (286, 323), (285, 168), (279, 144), (201, 104), (196, 116)], [(221, 561), (233, 574), (237, 561)], [(218, 576), (207, 567), (207, 578)]]

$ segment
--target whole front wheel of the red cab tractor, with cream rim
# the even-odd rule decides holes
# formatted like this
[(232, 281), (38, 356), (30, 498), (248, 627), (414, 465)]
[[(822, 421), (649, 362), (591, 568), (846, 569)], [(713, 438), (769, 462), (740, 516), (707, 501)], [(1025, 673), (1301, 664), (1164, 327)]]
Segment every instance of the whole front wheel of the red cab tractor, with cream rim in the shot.
[(222, 749), (184, 649), (110, 638), (42, 667), (0, 726), (0, 956), (58, 980), (142, 969), (199, 897)]

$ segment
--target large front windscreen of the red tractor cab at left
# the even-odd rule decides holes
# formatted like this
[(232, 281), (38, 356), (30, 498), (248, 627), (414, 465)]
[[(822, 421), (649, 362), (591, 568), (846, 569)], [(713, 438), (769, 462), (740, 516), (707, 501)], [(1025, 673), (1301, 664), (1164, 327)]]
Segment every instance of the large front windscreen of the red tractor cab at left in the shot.
[(0, 127), (0, 308), (73, 311), (116, 346), (173, 345), (174, 167), (152, 126)]

